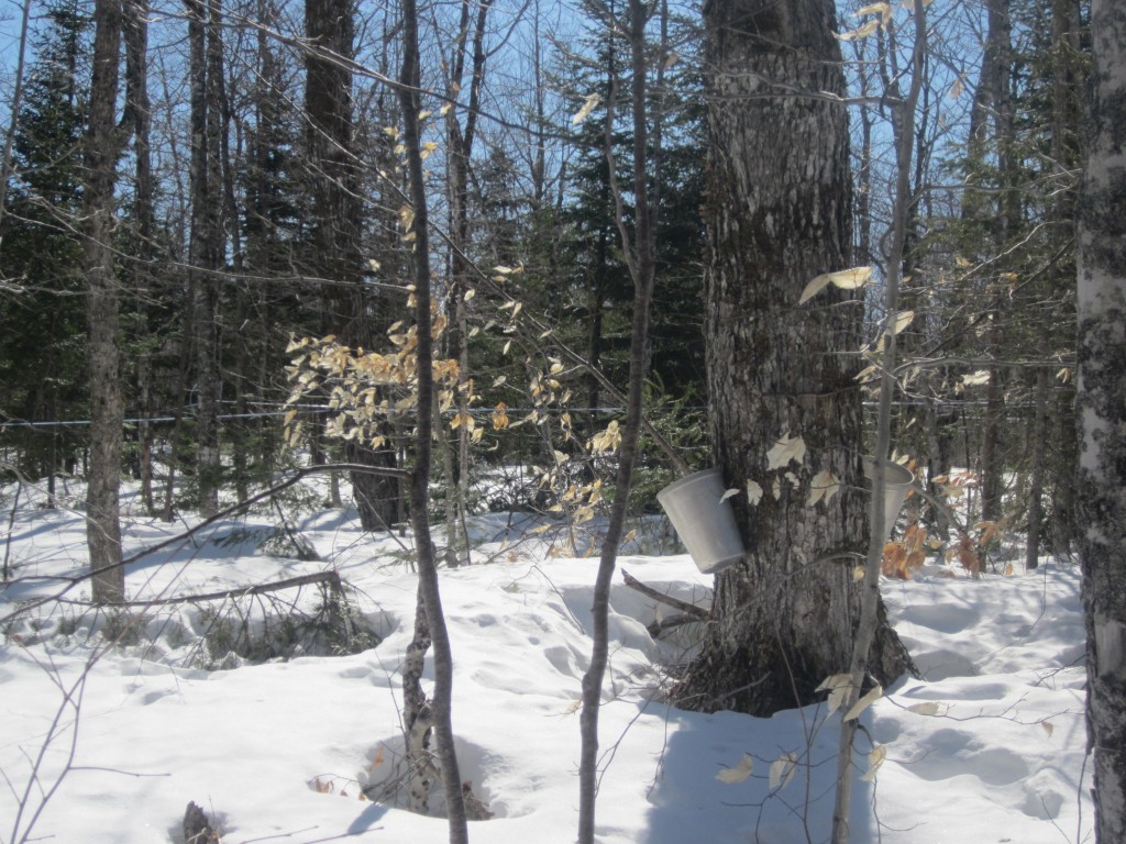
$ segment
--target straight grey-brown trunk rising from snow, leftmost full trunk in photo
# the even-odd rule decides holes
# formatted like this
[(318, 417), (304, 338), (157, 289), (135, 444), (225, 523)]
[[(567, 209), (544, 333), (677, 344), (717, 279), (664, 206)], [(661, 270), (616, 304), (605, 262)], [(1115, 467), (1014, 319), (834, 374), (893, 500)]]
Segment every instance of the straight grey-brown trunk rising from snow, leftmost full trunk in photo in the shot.
[(120, 62), (120, 0), (93, 9), (93, 78), (86, 136), (86, 276), (89, 284), (90, 467), (87, 545), (97, 603), (125, 596), (118, 485), (124, 406), (118, 340), (118, 291), (114, 271), (114, 182), (119, 151), (115, 107)]

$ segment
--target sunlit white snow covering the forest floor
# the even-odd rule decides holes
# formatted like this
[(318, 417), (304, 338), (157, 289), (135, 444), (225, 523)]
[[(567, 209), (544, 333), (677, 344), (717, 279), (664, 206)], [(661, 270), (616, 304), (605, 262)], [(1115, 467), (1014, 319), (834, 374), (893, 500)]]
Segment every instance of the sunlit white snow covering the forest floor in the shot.
[[(382, 637), (359, 653), (243, 664), (200, 646), (215, 616), (190, 604), (148, 610), (113, 647), (95, 632), (107, 629), (106, 618), (73, 604), (12, 618), (21, 602), (62, 589), (50, 578), (79, 574), (86, 563), (80, 513), (37, 509), (25, 490), (12, 517), (12, 493), (0, 490), (0, 557), (14, 566), (14, 582), (0, 591), (0, 842), (180, 842), (189, 800), (217, 821), (225, 844), (446, 839), (440, 817), (412, 815), (393, 794), (359, 799), (361, 787), (378, 790), (394, 772), (402, 749), (399, 668), (415, 605), (409, 538), (365, 536), (348, 512), (295, 515), (294, 528), (322, 558), (298, 562), (256, 553), (277, 522), (263, 511), (208, 526), (129, 567), (136, 599), (334, 568), (355, 589), (365, 626)], [(127, 550), (182, 527), (131, 517)], [(506, 545), (507, 527), (516, 532)], [(597, 562), (560, 556), (552, 535), (530, 527), (515, 517), (476, 519), (477, 564), (441, 572), (461, 773), (494, 812), (471, 825), (474, 842), (575, 837), (577, 701)], [(626, 587), (620, 569), (704, 605), (713, 578), (685, 555), (649, 556), (660, 551), (654, 530), (640, 531), (619, 559), (610, 601), (598, 839), (826, 841), (839, 713), (812, 706), (757, 719), (663, 701), (668, 667), (690, 657), (694, 629), (654, 641), (646, 625), (674, 610)], [(580, 538), (575, 547), (588, 546)], [(900, 681), (861, 716), (854, 842), (1090, 839), (1080, 574), (1043, 563), (978, 581), (927, 566), (911, 582), (883, 583), (923, 679)], [(316, 586), (295, 594), (239, 605), (247, 612), (284, 601), (312, 613), (321, 600)], [(229, 617), (233, 610), (227, 602)], [(248, 619), (251, 629), (261, 623)], [(861, 781), (877, 744), (886, 761), (874, 782)], [(797, 760), (796, 773), (771, 788), (771, 765), (785, 754)], [(749, 778), (716, 778), (744, 755), (753, 760)]]

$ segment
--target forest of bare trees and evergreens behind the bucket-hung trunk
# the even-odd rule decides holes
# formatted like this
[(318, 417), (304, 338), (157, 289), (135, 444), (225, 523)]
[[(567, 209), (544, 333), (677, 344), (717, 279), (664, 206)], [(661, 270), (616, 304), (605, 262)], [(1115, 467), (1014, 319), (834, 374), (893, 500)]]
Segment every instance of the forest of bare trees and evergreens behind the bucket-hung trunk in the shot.
[[(922, 50), (910, 21), (924, 7)], [(12, 478), (45, 479), (48, 504), (59, 479), (88, 479), (96, 601), (124, 596), (123, 468), (170, 521), (249, 503), (306, 463), (339, 466), (365, 529), (432, 513), (454, 566), (471, 513), (578, 524), (626, 488), (644, 511), (711, 461), (699, 10), (646, 7), (633, 32), (624, 11), (15, 9), (0, 448)], [(939, 550), (977, 573), (1019, 531), (1027, 567), (1045, 545), (1066, 557), (1088, 11), (992, 0), (839, 16), (848, 264), (865, 269), (823, 284), (866, 287), (879, 339), (847, 350), (872, 363), (861, 387), (875, 399), (894, 326), (896, 454), (966, 515)], [(918, 91), (911, 114), (900, 87)], [(632, 303), (650, 226), (646, 439), (629, 472), (614, 457), (628, 403), (617, 385), (638, 371)], [(902, 289), (885, 313), (891, 277)], [(432, 417), (414, 412), (431, 377)], [(342, 503), (336, 484), (328, 503)], [(948, 532), (949, 511), (920, 518)], [(885, 573), (910, 576), (922, 551), (900, 550)]]

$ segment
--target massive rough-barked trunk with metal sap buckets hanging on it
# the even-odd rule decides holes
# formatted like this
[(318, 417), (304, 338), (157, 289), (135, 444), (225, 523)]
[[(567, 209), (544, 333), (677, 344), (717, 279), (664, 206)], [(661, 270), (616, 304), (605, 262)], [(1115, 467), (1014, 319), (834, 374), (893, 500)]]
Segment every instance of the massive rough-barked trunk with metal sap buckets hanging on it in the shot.
[[(704, 17), (711, 416), (727, 485), (754, 482), (765, 494), (733, 500), (748, 551), (717, 576), (716, 623), (677, 697), (769, 715), (810, 702), (848, 668), (859, 618), (847, 555), (868, 545), (855, 380), (863, 305), (837, 288), (797, 304), (811, 279), (848, 266), (848, 117), (821, 93), (843, 93), (832, 2), (712, 0)], [(805, 456), (770, 469), (767, 452), (785, 436), (801, 437)], [(841, 487), (811, 506), (823, 470)], [(883, 622), (872, 674), (891, 681), (908, 662)]]

